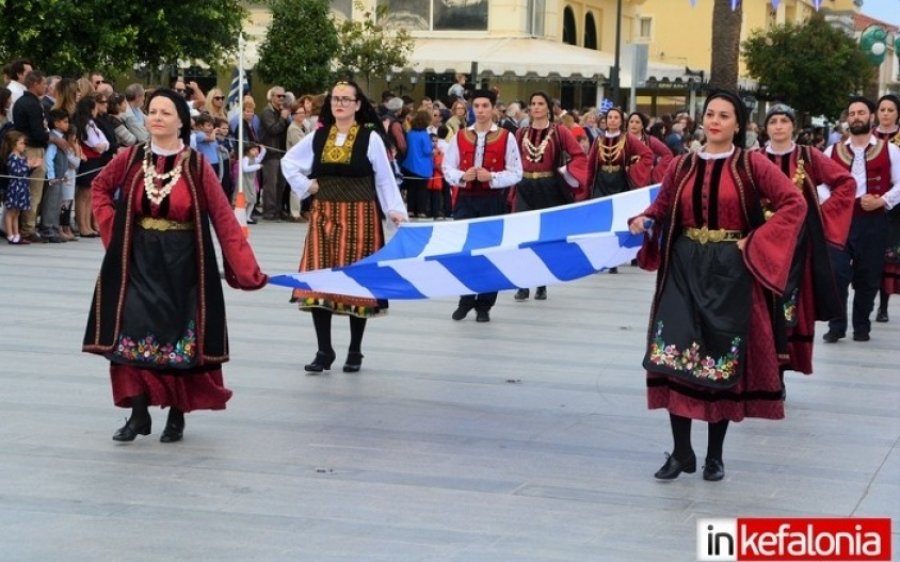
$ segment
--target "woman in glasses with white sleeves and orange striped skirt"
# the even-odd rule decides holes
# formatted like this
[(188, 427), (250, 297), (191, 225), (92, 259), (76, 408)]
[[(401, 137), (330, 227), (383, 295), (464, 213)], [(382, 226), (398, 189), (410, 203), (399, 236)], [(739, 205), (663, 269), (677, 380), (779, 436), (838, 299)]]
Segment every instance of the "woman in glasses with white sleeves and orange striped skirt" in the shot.
[[(388, 161), (384, 129), (374, 107), (353, 82), (338, 82), (325, 99), (321, 126), (281, 160), (291, 189), (301, 199), (315, 195), (300, 271), (342, 267), (384, 245), (381, 217), (399, 225), (406, 208)], [(430, 143), (429, 143), (430, 144)], [(350, 318), (350, 347), (344, 372), (362, 366), (366, 320), (387, 312), (386, 301), (296, 289), (291, 302), (312, 313), (318, 351), (304, 366), (310, 373), (331, 369), (331, 318)]]

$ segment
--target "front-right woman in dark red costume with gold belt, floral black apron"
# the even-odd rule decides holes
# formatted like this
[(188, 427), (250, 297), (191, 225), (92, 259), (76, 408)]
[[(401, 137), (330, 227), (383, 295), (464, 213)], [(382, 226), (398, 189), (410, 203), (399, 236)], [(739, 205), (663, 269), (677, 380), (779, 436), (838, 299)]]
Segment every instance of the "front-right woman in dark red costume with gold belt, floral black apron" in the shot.
[(643, 364), (648, 406), (669, 411), (675, 444), (661, 480), (696, 471), (692, 419), (709, 426), (703, 479), (716, 481), (730, 421), (784, 417), (770, 303), (787, 282), (806, 203), (765, 155), (743, 149), (746, 126), (737, 94), (710, 94), (703, 150), (679, 156), (629, 223), (638, 234), (652, 222), (638, 259), (659, 270)]

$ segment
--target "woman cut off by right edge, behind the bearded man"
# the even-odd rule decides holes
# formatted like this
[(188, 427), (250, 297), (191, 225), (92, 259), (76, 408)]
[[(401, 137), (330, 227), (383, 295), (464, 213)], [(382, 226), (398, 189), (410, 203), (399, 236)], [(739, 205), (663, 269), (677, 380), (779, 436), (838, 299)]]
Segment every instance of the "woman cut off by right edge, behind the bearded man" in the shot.
[[(900, 99), (893, 94), (885, 94), (878, 99), (875, 111), (878, 126), (872, 134), (900, 146)], [(888, 321), (887, 305), (891, 295), (900, 295), (900, 206), (888, 211), (888, 245), (884, 253), (876, 322)]]

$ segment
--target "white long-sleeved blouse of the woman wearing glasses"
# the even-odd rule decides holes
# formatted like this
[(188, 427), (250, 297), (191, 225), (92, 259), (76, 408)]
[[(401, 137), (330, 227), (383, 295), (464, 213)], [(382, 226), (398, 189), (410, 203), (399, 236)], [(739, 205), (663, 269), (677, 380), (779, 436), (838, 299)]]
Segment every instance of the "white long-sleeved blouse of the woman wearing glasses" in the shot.
[[(385, 213), (395, 211), (406, 217), (406, 205), (403, 203), (400, 188), (394, 178), (394, 171), (388, 161), (384, 141), (375, 131), (371, 131), (370, 135), (366, 156), (372, 163), (372, 169), (375, 170), (375, 191), (378, 194), (381, 209)], [(312, 179), (309, 174), (312, 173), (314, 158), (313, 138), (315, 135), (312, 133), (306, 135), (281, 159), (281, 171), (291, 186), (291, 190), (300, 199), (305, 199), (310, 195), (309, 185), (312, 183)], [(334, 143), (337, 146), (343, 146), (346, 140), (346, 134), (338, 133)]]

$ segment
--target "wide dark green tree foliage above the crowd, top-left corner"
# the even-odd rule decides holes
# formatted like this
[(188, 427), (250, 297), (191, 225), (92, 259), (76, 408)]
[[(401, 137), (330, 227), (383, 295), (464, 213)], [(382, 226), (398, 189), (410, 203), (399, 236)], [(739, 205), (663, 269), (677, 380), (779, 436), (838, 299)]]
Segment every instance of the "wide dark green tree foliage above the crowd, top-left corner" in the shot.
[(236, 48), (245, 15), (240, 0), (0, 0), (0, 60), (27, 57), (64, 75), (217, 64)]

